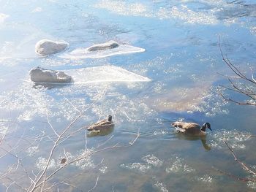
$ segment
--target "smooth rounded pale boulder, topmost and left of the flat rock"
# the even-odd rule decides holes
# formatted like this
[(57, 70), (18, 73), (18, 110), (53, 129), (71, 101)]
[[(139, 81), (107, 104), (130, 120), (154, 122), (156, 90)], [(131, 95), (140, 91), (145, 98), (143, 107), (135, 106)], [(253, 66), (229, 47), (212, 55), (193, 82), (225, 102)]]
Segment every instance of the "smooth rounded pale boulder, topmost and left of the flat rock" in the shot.
[(67, 42), (54, 42), (49, 39), (42, 39), (37, 42), (35, 51), (39, 55), (51, 55), (65, 50), (68, 46)]

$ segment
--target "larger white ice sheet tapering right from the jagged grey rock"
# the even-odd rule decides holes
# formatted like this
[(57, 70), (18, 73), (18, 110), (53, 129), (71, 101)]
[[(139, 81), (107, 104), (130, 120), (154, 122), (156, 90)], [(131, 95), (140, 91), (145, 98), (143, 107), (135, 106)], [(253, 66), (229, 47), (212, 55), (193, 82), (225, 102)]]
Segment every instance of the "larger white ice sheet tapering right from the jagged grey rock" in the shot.
[(93, 82), (148, 82), (148, 77), (129, 72), (118, 66), (94, 66), (83, 69), (72, 69), (65, 71), (75, 83)]

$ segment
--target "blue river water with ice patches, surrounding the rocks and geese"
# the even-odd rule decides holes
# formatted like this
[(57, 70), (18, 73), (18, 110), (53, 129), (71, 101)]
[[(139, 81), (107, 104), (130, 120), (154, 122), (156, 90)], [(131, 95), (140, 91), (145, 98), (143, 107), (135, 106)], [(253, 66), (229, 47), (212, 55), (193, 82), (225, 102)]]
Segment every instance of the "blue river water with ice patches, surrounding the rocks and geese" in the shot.
[[(222, 61), (219, 37), (230, 61), (250, 72), (256, 62), (255, 1), (1, 0), (0, 191), (31, 190), (54, 141), (79, 112), (53, 150), (42, 180), (62, 169), (41, 185), (45, 190), (255, 191), (256, 183), (216, 171), (252, 178), (223, 139), (256, 167), (256, 139), (250, 137), (256, 134), (255, 107), (227, 103), (217, 92), (228, 84), (220, 74), (233, 75)], [(66, 52), (109, 40), (146, 52), (39, 57), (34, 45), (40, 39), (69, 42)], [(35, 66), (81, 70), (77, 77), (89, 82), (33, 85), (29, 70)], [(83, 128), (109, 114), (112, 130), (95, 136)], [(209, 122), (213, 131), (205, 140), (184, 137), (170, 127), (176, 120)], [(113, 147), (129, 145), (138, 131), (132, 146)], [(105, 147), (112, 148), (99, 151)]]

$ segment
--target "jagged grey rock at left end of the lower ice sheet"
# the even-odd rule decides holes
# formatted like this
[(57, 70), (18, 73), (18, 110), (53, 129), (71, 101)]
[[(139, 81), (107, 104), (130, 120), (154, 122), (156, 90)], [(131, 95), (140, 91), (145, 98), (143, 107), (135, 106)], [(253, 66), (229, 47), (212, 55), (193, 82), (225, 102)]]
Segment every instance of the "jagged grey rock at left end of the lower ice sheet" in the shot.
[(37, 66), (29, 72), (30, 79), (33, 82), (47, 82), (47, 83), (68, 83), (72, 82), (72, 77), (64, 72), (57, 72), (50, 69), (44, 69)]

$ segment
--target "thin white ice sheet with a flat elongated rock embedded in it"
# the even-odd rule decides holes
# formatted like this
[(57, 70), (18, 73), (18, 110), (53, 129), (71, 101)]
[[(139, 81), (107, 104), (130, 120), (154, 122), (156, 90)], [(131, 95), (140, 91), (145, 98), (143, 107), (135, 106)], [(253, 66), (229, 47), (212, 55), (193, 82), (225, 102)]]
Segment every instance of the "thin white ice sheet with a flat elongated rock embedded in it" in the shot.
[(69, 53), (59, 55), (60, 58), (104, 58), (111, 55), (121, 55), (128, 53), (141, 53), (145, 49), (132, 45), (123, 45), (115, 41), (92, 45), (87, 48), (77, 48)]

